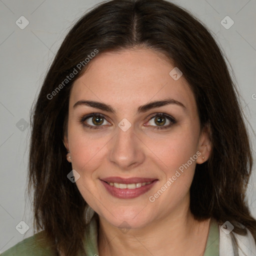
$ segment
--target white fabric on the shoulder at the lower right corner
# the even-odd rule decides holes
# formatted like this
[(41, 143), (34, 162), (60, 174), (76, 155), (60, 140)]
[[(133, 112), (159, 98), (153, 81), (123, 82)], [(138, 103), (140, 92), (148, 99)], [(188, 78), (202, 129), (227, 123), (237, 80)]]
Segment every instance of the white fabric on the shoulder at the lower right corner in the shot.
[[(251, 234), (251, 232), (246, 228), (247, 234), (240, 235), (233, 232), (237, 244), (238, 244), (238, 254), (239, 256), (249, 256), (249, 255), (256, 255), (256, 242)], [(229, 256), (234, 255), (233, 253), (233, 246), (232, 246), (232, 239), (231, 236), (225, 232), (223, 232), (219, 225), (219, 255), (222, 256)], [(253, 254), (251, 254), (253, 253)]]

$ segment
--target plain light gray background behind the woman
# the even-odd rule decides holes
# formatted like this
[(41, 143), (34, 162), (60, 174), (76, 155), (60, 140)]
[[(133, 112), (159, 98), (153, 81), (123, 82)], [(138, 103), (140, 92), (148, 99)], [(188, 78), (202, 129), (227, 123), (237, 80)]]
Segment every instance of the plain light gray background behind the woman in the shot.
[[(31, 208), (25, 195), (29, 110), (46, 70), (65, 34), (99, 0), (0, 0), (0, 252), (33, 234)], [(255, 159), (256, 130), (256, 0), (173, 0), (211, 30), (231, 63), (242, 96)], [(230, 26), (226, 29), (223, 25)], [(20, 29), (25, 21), (29, 24)], [(226, 23), (226, 24), (221, 24)], [(230, 68), (231, 70), (231, 68)], [(228, 95), (226, 95), (228, 100)], [(256, 217), (256, 178), (248, 187), (248, 204)], [(23, 235), (15, 226), (25, 221)], [(20, 224), (18, 225), (20, 226)], [(21, 224), (22, 228), (24, 225)], [(21, 228), (21, 229), (22, 229)], [(18, 229), (18, 228), (17, 228)]]

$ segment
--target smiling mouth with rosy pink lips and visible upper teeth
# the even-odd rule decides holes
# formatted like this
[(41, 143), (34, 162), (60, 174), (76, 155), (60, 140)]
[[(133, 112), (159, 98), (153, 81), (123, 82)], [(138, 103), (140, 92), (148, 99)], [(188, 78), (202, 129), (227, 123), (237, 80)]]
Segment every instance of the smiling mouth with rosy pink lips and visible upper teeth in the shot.
[(146, 193), (158, 179), (154, 178), (120, 178), (107, 177), (100, 179), (106, 191), (114, 197), (131, 199)]

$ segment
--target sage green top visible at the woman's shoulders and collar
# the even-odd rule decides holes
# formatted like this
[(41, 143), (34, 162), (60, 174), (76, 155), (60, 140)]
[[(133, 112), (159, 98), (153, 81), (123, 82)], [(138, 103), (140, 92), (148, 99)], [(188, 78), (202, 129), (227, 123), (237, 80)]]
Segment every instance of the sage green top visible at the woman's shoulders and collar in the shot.
[[(1, 256), (51, 256), (53, 250), (41, 243), (43, 231), (30, 236), (8, 250), (4, 251)], [(89, 228), (85, 231), (84, 248), (87, 256), (98, 255), (97, 248), (97, 223), (94, 218), (89, 223)], [(219, 229), (216, 221), (210, 222), (208, 238), (203, 256), (219, 256)]]

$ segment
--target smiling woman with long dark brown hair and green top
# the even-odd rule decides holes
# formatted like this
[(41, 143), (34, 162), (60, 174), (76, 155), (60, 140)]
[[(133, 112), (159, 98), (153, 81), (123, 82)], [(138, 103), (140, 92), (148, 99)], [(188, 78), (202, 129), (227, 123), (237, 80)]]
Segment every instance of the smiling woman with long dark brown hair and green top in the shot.
[(237, 93), (214, 39), (182, 8), (112, 0), (85, 14), (32, 123), (43, 231), (3, 256), (256, 255)]

